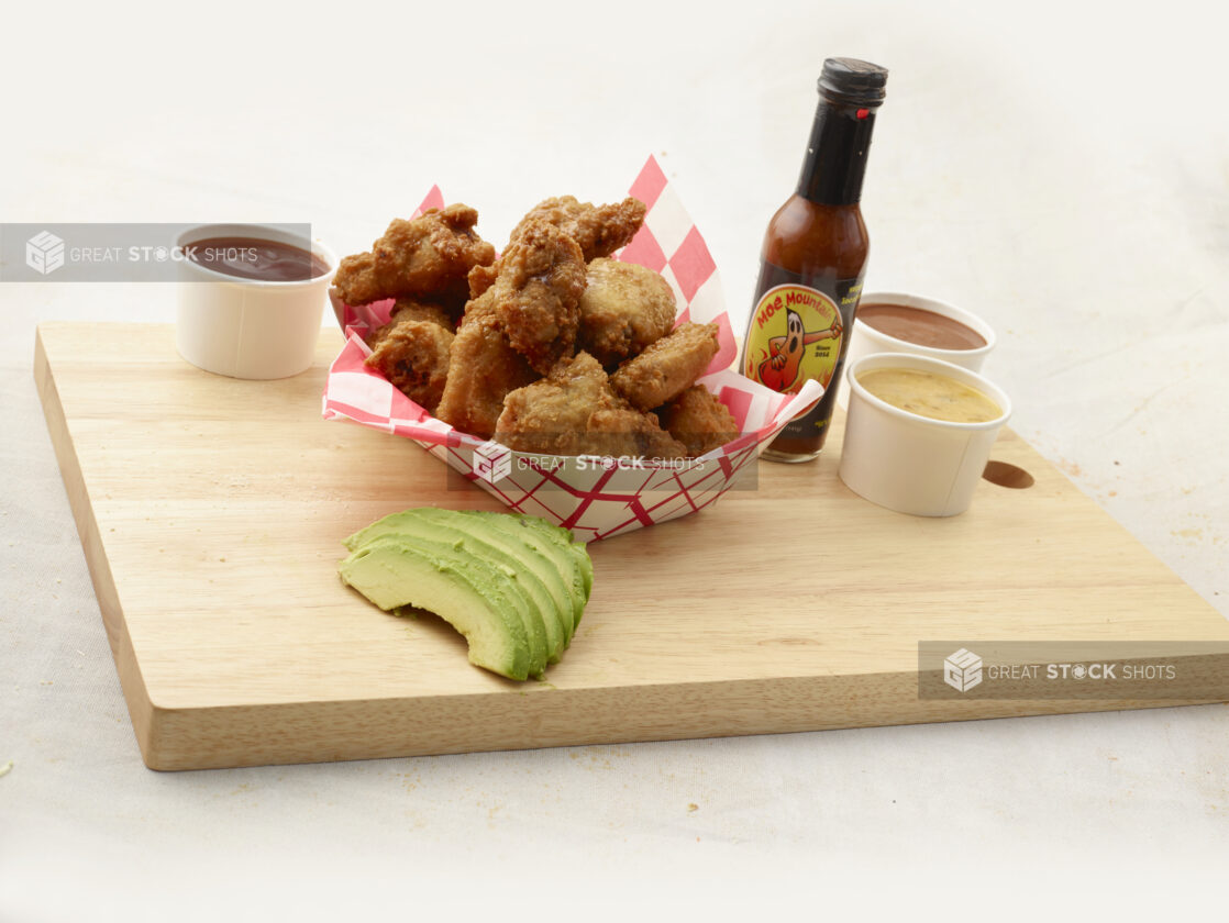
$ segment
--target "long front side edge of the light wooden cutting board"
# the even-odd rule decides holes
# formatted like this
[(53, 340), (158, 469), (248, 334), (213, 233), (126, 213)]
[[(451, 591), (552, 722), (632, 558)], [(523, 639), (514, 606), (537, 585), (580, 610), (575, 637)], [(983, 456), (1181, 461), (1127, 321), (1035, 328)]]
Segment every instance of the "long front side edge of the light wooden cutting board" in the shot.
[[(812, 703), (809, 707), (801, 704)], [(794, 734), (1213, 704), (1206, 701), (919, 699), (914, 674), (791, 677), (526, 697), (157, 709), (146, 764), (237, 768), (445, 753)], [(580, 717), (581, 728), (578, 728)]]

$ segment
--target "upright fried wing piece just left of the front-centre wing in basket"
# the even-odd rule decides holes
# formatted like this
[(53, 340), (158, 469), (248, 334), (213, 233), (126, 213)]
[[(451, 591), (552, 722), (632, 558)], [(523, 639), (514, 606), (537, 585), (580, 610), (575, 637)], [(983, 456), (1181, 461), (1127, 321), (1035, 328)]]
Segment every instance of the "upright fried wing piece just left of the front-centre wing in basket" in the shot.
[(462, 433), (490, 439), (504, 397), (537, 377), (509, 344), (497, 317), (471, 317), (452, 340), (449, 377), (435, 415)]

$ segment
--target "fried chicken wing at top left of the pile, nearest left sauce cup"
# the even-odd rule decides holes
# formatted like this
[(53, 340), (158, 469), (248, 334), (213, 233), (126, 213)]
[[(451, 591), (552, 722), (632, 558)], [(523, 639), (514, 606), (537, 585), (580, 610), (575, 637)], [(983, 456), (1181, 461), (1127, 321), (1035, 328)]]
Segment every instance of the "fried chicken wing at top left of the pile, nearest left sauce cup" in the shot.
[(477, 222), (478, 213), (461, 204), (395, 219), (370, 253), (340, 262), (333, 286), (348, 305), (399, 295), (463, 302), (469, 270), (495, 259), (495, 248), (474, 231)]

